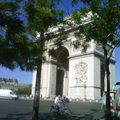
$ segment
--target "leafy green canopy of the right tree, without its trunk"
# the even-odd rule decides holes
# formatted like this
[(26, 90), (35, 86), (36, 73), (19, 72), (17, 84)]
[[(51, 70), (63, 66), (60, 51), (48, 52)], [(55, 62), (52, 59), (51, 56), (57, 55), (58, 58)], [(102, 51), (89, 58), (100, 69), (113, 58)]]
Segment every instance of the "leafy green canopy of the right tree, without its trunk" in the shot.
[[(75, 0), (76, 1), (76, 0)], [(90, 16), (89, 24), (79, 26), (77, 36), (83, 34), (86, 41), (94, 39), (97, 43), (116, 45), (120, 40), (120, 1), (119, 0), (83, 0), (86, 8), (76, 11), (73, 18), (82, 23), (83, 17)]]

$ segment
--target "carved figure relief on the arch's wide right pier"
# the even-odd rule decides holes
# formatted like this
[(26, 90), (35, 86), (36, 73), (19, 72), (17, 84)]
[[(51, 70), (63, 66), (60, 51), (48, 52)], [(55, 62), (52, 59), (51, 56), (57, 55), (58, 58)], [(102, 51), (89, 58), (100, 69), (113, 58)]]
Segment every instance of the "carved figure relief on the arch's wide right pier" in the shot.
[(75, 70), (75, 80), (76, 84), (79, 85), (81, 83), (85, 84), (87, 81), (87, 69), (88, 65), (85, 62), (79, 62), (78, 64), (75, 64), (74, 70)]

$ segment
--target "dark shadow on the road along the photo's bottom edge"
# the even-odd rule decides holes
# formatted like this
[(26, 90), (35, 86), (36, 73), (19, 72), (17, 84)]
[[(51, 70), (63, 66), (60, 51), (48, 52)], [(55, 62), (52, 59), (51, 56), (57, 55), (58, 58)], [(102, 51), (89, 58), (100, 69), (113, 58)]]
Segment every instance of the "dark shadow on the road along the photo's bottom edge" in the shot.
[[(96, 120), (94, 118), (94, 114), (98, 112), (98, 110), (92, 109), (91, 114), (58, 114), (58, 113), (40, 113), (40, 120)], [(19, 113), (19, 114), (8, 114), (0, 120), (31, 120), (32, 113)], [(101, 118), (99, 118), (101, 119)], [(97, 120), (99, 120), (97, 119)]]

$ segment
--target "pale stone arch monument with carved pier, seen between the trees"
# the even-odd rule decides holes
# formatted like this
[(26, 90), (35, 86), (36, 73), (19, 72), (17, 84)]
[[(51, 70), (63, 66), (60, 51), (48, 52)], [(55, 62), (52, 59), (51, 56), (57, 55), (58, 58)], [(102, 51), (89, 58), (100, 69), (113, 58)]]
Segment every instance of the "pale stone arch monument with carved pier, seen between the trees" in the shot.
[[(103, 50), (92, 40), (86, 50), (74, 48), (71, 44), (76, 40), (74, 32), (68, 33), (68, 38), (60, 48), (54, 45), (54, 39), (46, 43), (46, 61), (42, 65), (41, 95), (54, 97), (58, 94), (71, 99), (101, 99), (102, 91), (106, 90), (103, 82), (104, 64)], [(51, 56), (48, 51), (55, 48), (57, 56)], [(114, 54), (110, 62), (111, 88), (114, 84)], [(33, 72), (32, 95), (35, 91), (36, 71)]]

